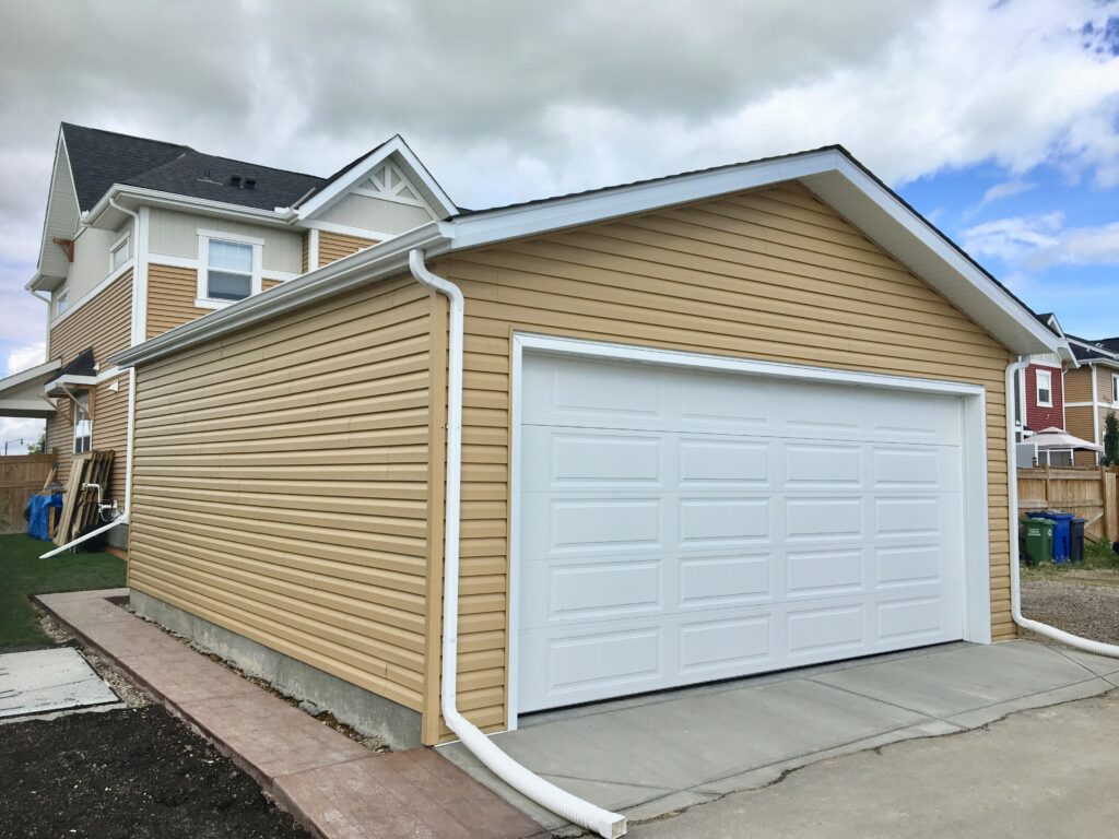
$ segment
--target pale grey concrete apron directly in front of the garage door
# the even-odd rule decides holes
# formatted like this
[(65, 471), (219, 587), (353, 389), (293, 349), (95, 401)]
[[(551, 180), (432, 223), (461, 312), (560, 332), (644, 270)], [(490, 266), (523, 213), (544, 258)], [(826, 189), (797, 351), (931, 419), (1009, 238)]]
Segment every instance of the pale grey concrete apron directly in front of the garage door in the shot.
[[(734, 794), (790, 770), (959, 734), (1117, 685), (1119, 660), (1032, 641), (959, 643), (533, 715), (495, 741), (553, 783), (624, 812), (634, 836), (680, 836), (673, 823), (679, 830), (709, 808), (709, 818), (725, 812), (730, 820), (718, 829), (732, 832), (722, 835), (750, 836), (731, 814)], [(461, 745), (439, 751), (546, 828), (580, 832), (506, 786)], [(664, 821), (680, 811), (687, 812)], [(769, 836), (773, 828), (770, 821)], [(819, 836), (820, 824), (806, 830)]]

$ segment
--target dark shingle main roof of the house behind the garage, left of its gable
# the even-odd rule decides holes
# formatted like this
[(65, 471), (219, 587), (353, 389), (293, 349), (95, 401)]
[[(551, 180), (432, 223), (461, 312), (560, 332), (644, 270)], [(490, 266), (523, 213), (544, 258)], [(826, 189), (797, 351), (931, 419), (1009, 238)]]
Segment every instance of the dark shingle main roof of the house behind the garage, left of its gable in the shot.
[(271, 210), (293, 205), (323, 182), (312, 175), (204, 154), (189, 145), (65, 122), (63, 135), (83, 213), (114, 183)]

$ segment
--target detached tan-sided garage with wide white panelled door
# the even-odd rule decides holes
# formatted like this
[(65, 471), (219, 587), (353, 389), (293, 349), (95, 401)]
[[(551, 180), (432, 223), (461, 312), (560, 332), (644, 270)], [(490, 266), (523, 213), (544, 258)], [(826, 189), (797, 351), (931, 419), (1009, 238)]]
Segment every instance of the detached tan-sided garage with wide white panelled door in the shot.
[(1012, 638), (1061, 342), (837, 148), (461, 211), (121, 356), (133, 605), (396, 744)]

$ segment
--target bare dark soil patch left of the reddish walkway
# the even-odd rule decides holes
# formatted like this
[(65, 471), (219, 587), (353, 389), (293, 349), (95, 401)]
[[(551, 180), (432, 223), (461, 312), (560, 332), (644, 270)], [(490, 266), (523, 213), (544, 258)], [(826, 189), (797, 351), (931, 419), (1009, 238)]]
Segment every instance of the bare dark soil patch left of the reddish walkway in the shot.
[(0, 839), (309, 839), (162, 708), (4, 726)]

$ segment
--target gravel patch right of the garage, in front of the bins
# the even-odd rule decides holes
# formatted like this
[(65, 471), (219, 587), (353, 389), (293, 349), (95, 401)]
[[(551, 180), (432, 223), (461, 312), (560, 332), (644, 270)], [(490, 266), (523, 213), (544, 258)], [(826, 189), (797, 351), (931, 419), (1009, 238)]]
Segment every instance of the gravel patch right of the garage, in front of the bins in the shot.
[(1082, 638), (1119, 643), (1117, 582), (1113, 572), (1090, 571), (1070, 571), (1060, 581), (1026, 581), (1022, 613)]

